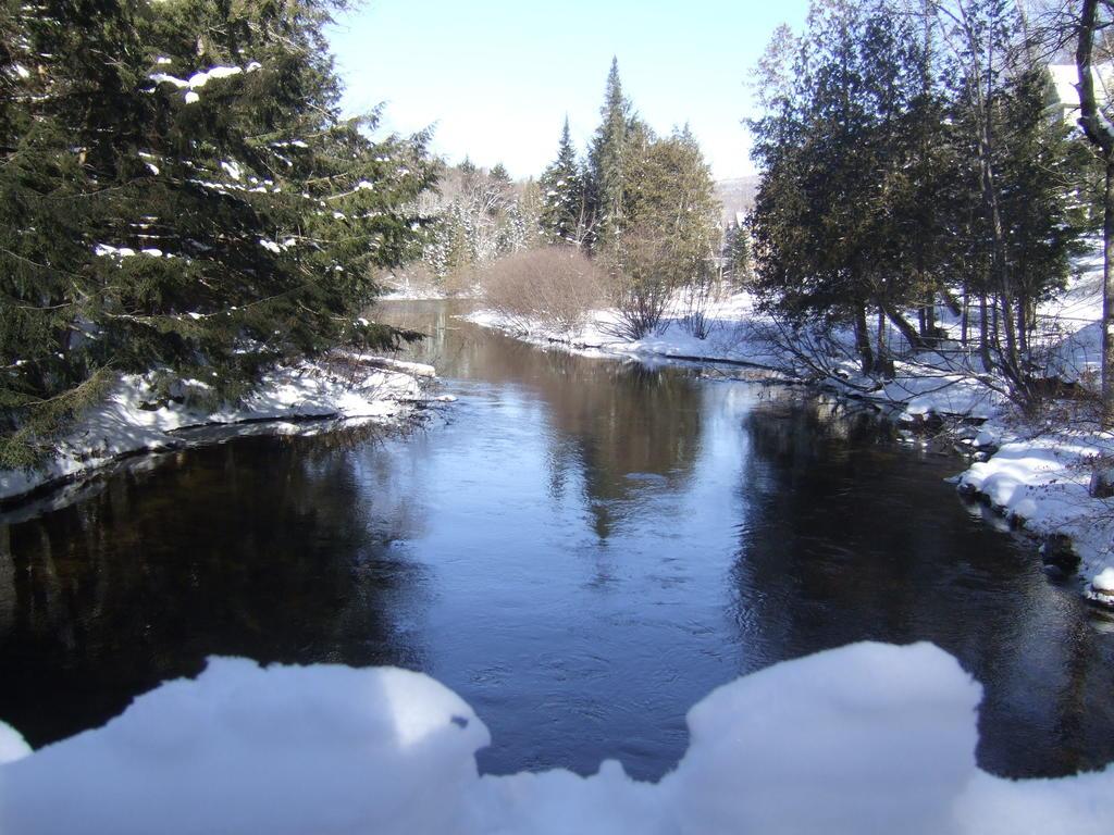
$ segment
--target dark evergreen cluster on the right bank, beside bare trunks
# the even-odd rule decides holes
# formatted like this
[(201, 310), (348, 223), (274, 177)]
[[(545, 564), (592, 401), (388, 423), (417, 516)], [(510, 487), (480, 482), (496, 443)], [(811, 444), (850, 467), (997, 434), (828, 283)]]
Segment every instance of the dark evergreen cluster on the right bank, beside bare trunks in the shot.
[(1027, 37), (1003, 0), (817, 0), (802, 37), (779, 33), (751, 124), (756, 286), (771, 311), (850, 324), (862, 371), (887, 374), (883, 325), (932, 347), (947, 304), (977, 356), (969, 371), (1034, 403), (1032, 312), (1088, 227), (1093, 168), (1045, 109)]

